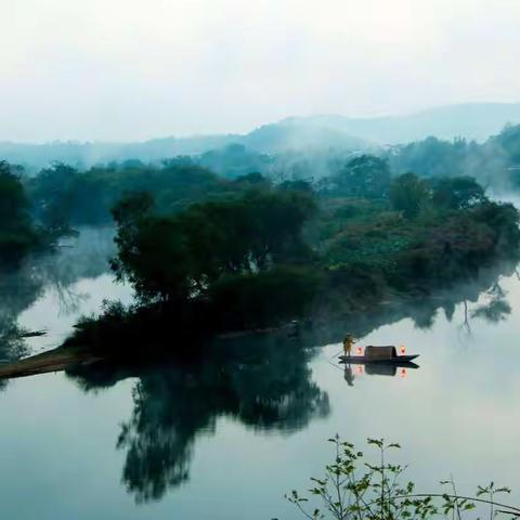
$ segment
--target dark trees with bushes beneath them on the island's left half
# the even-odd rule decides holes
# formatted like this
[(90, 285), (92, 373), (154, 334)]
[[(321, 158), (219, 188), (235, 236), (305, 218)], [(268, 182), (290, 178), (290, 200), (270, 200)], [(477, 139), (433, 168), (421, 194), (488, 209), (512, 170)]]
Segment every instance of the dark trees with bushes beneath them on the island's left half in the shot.
[(308, 311), (320, 281), (302, 239), (315, 209), (306, 192), (264, 186), (162, 216), (134, 194), (114, 208), (113, 269), (141, 303), (204, 314), (202, 330), (280, 323)]

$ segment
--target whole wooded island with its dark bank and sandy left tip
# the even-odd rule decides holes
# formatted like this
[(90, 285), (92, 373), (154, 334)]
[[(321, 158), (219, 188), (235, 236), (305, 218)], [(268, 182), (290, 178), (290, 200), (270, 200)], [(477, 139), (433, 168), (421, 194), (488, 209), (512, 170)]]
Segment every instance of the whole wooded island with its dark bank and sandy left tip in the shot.
[[(63, 168), (46, 182), (76, 174)], [(105, 302), (58, 349), (3, 366), (2, 376), (102, 359), (185, 359), (214, 338), (289, 323), (297, 334), (298, 323), (352, 321), (518, 258), (517, 209), (491, 200), (470, 177), (395, 176), (372, 155), (317, 182), (275, 183), (259, 173), (222, 180), (181, 161), (153, 178), (165, 171), (177, 172), (173, 184), (198, 172), (206, 191), (179, 205), (173, 191), (160, 198), (148, 183), (113, 207), (110, 266), (132, 286), (134, 304)]]

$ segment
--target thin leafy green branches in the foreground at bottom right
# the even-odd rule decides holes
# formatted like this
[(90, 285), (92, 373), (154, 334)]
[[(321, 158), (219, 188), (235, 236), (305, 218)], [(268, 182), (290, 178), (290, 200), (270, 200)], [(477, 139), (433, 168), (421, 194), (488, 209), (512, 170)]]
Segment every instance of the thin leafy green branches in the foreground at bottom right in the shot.
[[(477, 506), (489, 507), (489, 518), (498, 514), (520, 518), (520, 509), (495, 500), (500, 493), (510, 493), (508, 487), (497, 487), (494, 482), (479, 486), (474, 497), (457, 493), (455, 481), (441, 481), (447, 486), (445, 493), (416, 493), (413, 482), (402, 483), (406, 466), (390, 464), (387, 452), (401, 446), (387, 444), (384, 439), (368, 439), (369, 446), (378, 452), (377, 464), (365, 460), (363, 452), (354, 444), (343, 442), (339, 435), (328, 439), (335, 447), (335, 459), (325, 467), (325, 476), (311, 478), (310, 494), (322, 503), (322, 508), (310, 506), (310, 498), (292, 491), (286, 498), (310, 520), (427, 520), (443, 517), (461, 520)], [(314, 502), (314, 500), (312, 500)]]

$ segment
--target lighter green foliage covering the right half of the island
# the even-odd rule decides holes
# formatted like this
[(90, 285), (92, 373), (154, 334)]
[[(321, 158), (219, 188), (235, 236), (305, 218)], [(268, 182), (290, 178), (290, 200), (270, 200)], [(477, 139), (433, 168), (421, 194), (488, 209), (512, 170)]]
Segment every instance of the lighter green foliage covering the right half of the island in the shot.
[[(405, 183), (411, 182), (411, 174), (405, 177)], [(413, 182), (424, 181), (416, 178)], [(324, 257), (329, 269), (336, 276), (342, 273), (346, 281), (358, 278), (362, 272), (380, 289), (428, 290), (474, 275), (497, 257), (516, 256), (520, 234), (515, 207), (485, 197), (472, 202), (472, 190), (467, 197), (455, 188), (446, 195), (446, 184), (441, 183), (442, 192), (422, 186), (422, 207), (417, 214), (401, 206), (398, 208), (403, 210), (396, 212), (391, 207), (385, 210), (366, 203), (338, 202), (323, 226)], [(392, 191), (395, 188), (392, 186)], [(394, 204), (402, 202), (399, 198)], [(330, 222), (340, 230), (332, 233)], [(377, 294), (374, 289), (372, 292)]]

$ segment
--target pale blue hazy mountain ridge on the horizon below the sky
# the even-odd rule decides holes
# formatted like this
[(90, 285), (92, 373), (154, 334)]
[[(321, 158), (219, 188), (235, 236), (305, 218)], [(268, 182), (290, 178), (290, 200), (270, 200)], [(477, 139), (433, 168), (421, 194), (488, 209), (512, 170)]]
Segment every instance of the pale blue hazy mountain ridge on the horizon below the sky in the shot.
[(262, 154), (326, 148), (367, 150), (418, 141), (429, 135), (484, 141), (506, 123), (520, 123), (520, 103), (467, 103), (407, 116), (352, 118), (338, 115), (291, 117), (246, 134), (164, 138), (139, 143), (0, 142), (0, 159), (40, 168), (57, 160), (79, 167), (141, 159), (155, 161), (178, 155), (200, 155), (230, 144)]

